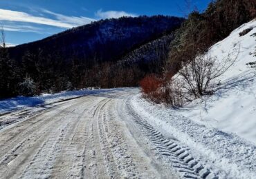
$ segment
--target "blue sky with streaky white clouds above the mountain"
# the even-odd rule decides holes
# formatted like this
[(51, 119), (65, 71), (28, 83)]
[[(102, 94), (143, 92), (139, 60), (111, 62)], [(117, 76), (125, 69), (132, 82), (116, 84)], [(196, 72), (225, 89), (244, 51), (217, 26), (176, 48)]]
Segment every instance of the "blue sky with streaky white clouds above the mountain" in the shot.
[[(204, 10), (210, 0), (190, 0)], [(193, 7), (191, 7), (192, 9)], [(122, 16), (184, 17), (183, 0), (1, 0), (0, 25), (10, 45), (28, 43), (91, 21)]]

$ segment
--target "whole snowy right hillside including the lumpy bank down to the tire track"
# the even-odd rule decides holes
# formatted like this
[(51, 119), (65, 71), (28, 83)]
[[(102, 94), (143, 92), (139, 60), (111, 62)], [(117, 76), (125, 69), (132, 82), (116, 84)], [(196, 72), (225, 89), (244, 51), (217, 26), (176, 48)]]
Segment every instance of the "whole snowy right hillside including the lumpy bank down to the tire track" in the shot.
[(256, 62), (255, 46), (256, 20), (210, 48), (208, 55), (219, 62), (237, 56), (217, 79), (215, 94), (179, 109), (149, 103), (137, 95), (131, 107), (161, 134), (188, 147), (219, 178), (256, 178), (256, 67), (246, 65)]

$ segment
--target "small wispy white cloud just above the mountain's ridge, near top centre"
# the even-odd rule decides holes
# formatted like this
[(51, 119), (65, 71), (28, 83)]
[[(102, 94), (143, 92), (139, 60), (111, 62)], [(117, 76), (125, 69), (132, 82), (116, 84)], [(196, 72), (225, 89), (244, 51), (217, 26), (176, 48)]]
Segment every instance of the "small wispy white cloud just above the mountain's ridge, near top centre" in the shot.
[(102, 11), (98, 10), (95, 15), (100, 19), (110, 19), (110, 18), (119, 18), (119, 17), (136, 17), (136, 14), (131, 14), (125, 11)]

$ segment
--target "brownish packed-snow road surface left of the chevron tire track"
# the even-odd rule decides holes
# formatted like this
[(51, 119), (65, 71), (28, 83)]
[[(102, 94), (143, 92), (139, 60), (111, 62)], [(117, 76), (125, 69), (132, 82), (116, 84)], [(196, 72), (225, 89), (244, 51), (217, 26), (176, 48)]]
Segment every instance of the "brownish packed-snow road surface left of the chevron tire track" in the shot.
[(129, 114), (122, 104), (132, 94), (133, 90), (84, 96), (33, 112), (1, 129), (0, 178), (173, 176), (144, 147), (145, 141), (129, 131)]

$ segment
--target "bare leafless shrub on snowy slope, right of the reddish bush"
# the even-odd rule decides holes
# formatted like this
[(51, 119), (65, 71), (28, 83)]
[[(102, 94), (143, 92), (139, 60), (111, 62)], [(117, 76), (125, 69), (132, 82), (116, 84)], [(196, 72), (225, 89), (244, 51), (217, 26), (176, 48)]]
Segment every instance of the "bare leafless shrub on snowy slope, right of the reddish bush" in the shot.
[(217, 78), (224, 74), (237, 60), (239, 45), (234, 52), (231, 52), (219, 61), (216, 56), (202, 54), (189, 63), (183, 63), (183, 67), (176, 76), (176, 81), (183, 84), (187, 99), (199, 98), (214, 93), (214, 86), (217, 85)]

